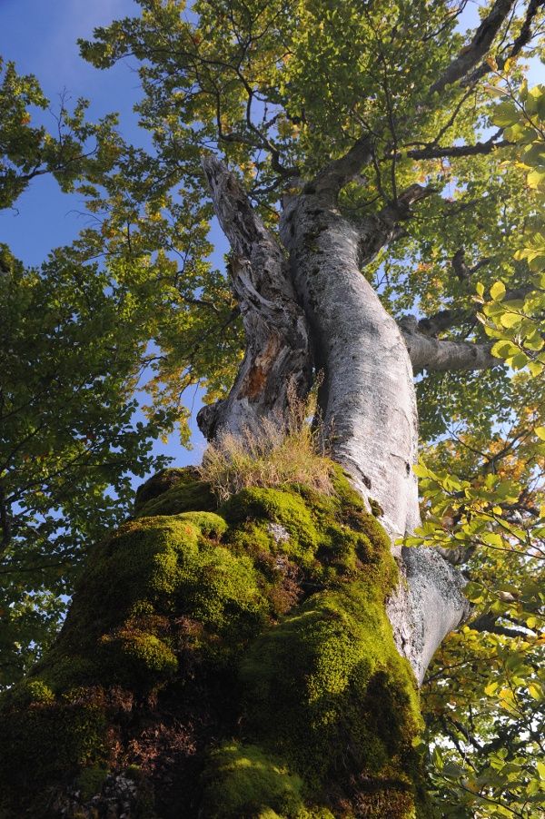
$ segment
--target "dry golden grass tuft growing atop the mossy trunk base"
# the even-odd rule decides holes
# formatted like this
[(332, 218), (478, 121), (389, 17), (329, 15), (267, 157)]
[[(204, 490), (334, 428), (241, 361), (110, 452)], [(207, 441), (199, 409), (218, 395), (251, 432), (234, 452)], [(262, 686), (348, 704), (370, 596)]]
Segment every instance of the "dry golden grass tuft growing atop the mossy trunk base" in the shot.
[(224, 501), (246, 487), (302, 483), (332, 494), (331, 461), (322, 451), (320, 431), (306, 419), (307, 405), (294, 397), (287, 418), (263, 419), (255, 432), (226, 434), (210, 444), (199, 472)]

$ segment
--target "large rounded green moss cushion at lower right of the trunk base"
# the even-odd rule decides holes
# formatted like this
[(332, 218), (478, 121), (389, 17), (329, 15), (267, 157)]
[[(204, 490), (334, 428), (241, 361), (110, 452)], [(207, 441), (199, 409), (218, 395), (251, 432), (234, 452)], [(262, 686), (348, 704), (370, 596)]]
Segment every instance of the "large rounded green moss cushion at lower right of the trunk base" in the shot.
[(314, 595), (257, 639), (241, 675), (253, 735), (315, 787), (362, 772), (380, 780), (384, 768), (391, 779), (392, 760), (411, 755), (420, 726), (411, 670), (365, 583)]

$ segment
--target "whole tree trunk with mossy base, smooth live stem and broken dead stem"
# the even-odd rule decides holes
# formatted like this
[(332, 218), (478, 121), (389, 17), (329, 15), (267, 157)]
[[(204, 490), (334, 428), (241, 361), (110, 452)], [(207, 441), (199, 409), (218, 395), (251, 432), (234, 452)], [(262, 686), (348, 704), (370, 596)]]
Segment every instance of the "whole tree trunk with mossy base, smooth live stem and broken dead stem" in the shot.
[(192, 469), (144, 484), (54, 646), (0, 701), (0, 814), (431, 817), (417, 687), (467, 602), (440, 554), (395, 545), (419, 520), (411, 359), (361, 268), (400, 202), (348, 222), (334, 165), (289, 202), (282, 249), (233, 175), (204, 168), (247, 349), (201, 425), (221, 439), (282, 423), (313, 356), (335, 492), (219, 505)]

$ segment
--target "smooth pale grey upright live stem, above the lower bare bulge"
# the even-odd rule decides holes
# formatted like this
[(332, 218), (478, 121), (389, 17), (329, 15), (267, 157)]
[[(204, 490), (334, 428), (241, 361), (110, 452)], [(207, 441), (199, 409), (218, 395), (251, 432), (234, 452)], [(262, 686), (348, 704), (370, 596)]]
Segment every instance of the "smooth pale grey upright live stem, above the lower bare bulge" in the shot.
[(417, 411), (411, 361), (398, 326), (362, 265), (387, 242), (393, 223), (365, 229), (338, 212), (329, 190), (302, 193), (282, 215), (282, 242), (324, 373), (322, 421), (333, 459), (363, 497), (383, 510), (393, 537), (419, 523)]

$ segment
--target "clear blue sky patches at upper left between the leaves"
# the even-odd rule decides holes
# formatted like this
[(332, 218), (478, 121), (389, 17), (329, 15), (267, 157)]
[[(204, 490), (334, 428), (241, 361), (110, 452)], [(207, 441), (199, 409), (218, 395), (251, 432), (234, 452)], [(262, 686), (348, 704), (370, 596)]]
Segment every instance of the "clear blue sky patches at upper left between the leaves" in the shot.
[[(119, 111), (126, 138), (138, 142), (134, 71), (125, 64), (97, 71), (84, 63), (75, 42), (135, 8), (133, 0), (0, 0), (0, 53), (15, 61), (19, 73), (37, 76), (53, 110), (64, 90), (73, 101), (86, 97), (90, 119)], [(44, 123), (54, 128), (53, 114), (45, 113)], [(15, 212), (0, 214), (0, 238), (23, 261), (38, 264), (54, 246), (72, 241), (84, 225), (82, 211), (79, 197), (67, 197), (43, 177), (17, 201)]]

